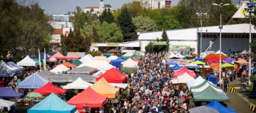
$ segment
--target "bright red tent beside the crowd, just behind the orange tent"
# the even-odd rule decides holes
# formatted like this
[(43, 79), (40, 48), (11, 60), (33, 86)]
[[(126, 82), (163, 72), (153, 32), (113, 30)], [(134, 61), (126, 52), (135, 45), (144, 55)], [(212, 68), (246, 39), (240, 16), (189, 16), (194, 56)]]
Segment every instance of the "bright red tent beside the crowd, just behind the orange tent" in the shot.
[(100, 80), (104, 77), (108, 83), (124, 83), (127, 80), (127, 76), (117, 71), (115, 68), (111, 68), (100, 77), (96, 78), (96, 80)]

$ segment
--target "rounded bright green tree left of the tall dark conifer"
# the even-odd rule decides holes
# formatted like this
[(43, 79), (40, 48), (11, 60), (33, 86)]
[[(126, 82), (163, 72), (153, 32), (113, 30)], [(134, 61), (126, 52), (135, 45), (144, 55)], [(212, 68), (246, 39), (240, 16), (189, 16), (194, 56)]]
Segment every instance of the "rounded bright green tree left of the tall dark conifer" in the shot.
[(99, 26), (98, 35), (100, 42), (122, 42), (122, 31), (115, 23), (108, 24), (106, 21)]

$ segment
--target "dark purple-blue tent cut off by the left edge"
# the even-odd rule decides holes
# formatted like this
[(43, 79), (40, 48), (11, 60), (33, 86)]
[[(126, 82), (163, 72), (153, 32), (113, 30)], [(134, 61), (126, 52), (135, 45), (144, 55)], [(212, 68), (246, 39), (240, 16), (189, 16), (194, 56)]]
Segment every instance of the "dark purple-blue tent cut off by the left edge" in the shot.
[(12, 88), (0, 87), (0, 98), (21, 97), (23, 94), (15, 92)]

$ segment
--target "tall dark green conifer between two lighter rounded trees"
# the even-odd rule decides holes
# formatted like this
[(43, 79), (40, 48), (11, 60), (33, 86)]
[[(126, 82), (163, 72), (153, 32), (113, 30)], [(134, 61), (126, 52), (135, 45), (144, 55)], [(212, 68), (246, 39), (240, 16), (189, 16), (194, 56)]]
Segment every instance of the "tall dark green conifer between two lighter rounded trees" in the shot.
[(120, 15), (117, 17), (117, 23), (122, 30), (124, 40), (136, 38), (136, 28), (132, 23), (131, 15), (127, 8), (121, 10)]

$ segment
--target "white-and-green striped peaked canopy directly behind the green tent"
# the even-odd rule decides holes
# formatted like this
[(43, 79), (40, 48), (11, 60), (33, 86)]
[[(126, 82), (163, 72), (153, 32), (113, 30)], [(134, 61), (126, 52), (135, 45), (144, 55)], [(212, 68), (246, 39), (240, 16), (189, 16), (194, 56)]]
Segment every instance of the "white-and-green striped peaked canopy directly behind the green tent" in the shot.
[(218, 91), (218, 92), (223, 92), (222, 89), (220, 89), (217, 86), (214, 86), (213, 84), (211, 84), (209, 81), (205, 80), (203, 83), (197, 85), (197, 86), (191, 86), (191, 92), (201, 92), (204, 89), (207, 89), (207, 87), (212, 87), (214, 90)]

